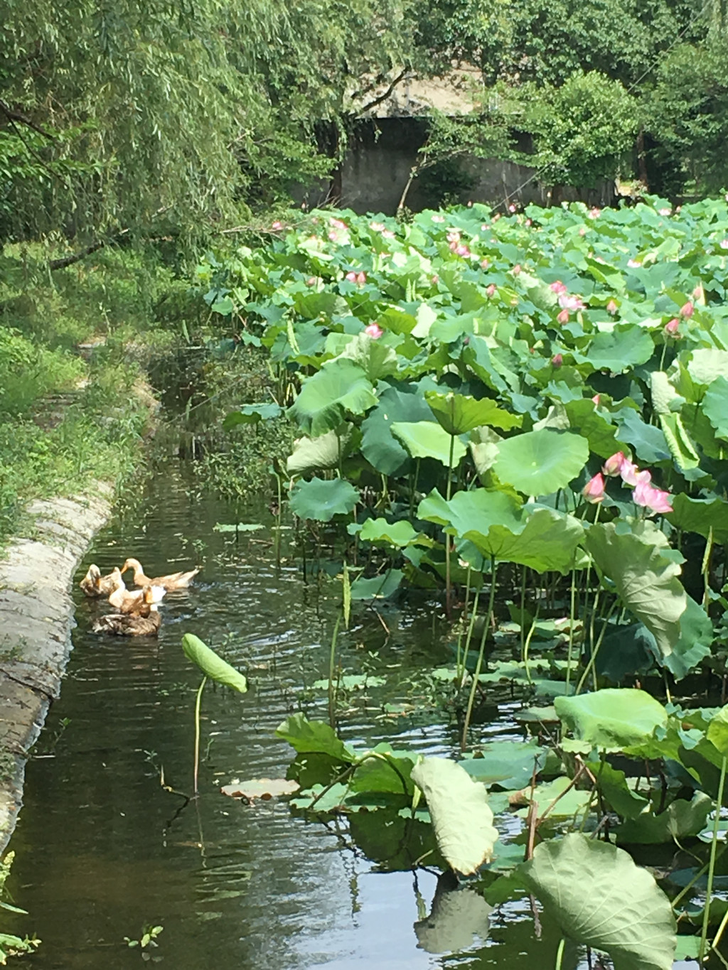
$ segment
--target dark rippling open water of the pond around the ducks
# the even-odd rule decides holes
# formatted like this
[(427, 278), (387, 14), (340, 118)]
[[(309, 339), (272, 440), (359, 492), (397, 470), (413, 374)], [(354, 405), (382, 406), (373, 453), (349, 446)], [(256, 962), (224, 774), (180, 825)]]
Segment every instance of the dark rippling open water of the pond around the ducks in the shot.
[[(215, 531), (239, 521), (264, 528)], [(188, 592), (165, 599), (158, 642), (92, 634), (98, 605), (76, 590), (74, 650), (27, 767), (10, 846), (17, 853), (10, 889), (30, 913), (12, 928), (32, 927), (43, 940), (22, 965), (125, 970), (143, 956), (181, 970), (553, 966), (559, 933), (543, 916), (535, 928), (527, 897), (496, 907), (488, 920), (470, 893), (470, 922), (461, 913), (453, 931), (428, 935), (422, 921), (436, 871), (386, 871), (385, 860), (352, 842), (346, 819), (322, 824), (282, 802), (247, 805), (219, 793), (233, 778), (284, 773), (292, 752), (275, 729), (288, 714), (326, 718), (325, 694), (312, 685), (326, 676), (340, 588), (305, 579), (290, 525), (278, 534), (279, 563), (275, 520), (262, 503), (241, 511), (201, 494), (190, 469), (169, 458), (139, 501), (97, 536), (85, 562), (104, 572), (131, 555), (150, 575), (195, 563), (203, 570)], [(250, 690), (207, 687), (201, 794), (185, 804), (160, 780), (163, 772), (166, 786), (192, 788), (199, 676), (182, 653), (187, 631), (244, 670)], [(447, 660), (446, 639), (437, 600), (382, 604), (378, 612), (355, 605), (340, 639), (343, 667), (383, 674), (387, 686), (351, 697), (342, 718), (347, 741), (456, 752), (454, 718), (448, 724), (416, 701), (410, 716), (388, 713), (408, 709), (402, 702), (412, 701), (418, 672)], [(514, 706), (494, 711), (475, 736), (523, 737)], [(149, 925), (163, 926), (158, 947), (142, 952), (124, 942)], [(567, 966), (587, 962), (567, 951)]]

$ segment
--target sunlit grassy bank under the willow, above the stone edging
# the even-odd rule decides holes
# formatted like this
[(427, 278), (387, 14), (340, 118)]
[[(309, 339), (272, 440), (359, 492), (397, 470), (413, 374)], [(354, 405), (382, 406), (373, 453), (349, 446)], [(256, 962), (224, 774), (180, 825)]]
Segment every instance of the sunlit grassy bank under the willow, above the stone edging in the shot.
[(102, 250), (51, 272), (54, 255), (37, 243), (0, 256), (0, 542), (28, 501), (118, 487), (138, 468), (146, 364), (195, 318), (159, 253)]

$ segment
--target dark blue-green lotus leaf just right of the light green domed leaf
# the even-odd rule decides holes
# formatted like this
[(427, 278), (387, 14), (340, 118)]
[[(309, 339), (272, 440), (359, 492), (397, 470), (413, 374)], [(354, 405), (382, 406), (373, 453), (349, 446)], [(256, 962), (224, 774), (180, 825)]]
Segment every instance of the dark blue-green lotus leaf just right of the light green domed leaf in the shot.
[(432, 411), (414, 386), (409, 390), (388, 387), (361, 426), (361, 453), (383, 475), (399, 475), (410, 464), (407, 451), (390, 431), (395, 421), (435, 423)]

